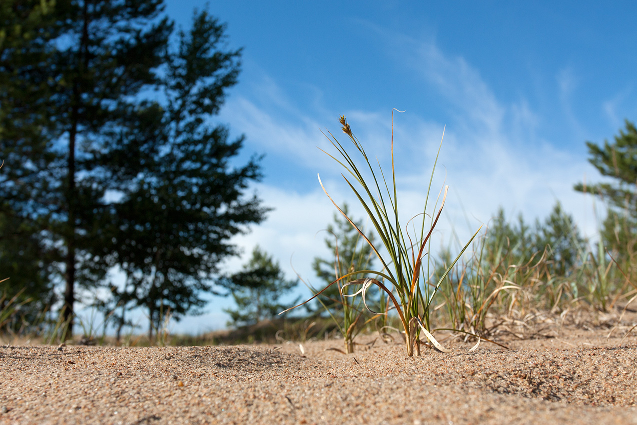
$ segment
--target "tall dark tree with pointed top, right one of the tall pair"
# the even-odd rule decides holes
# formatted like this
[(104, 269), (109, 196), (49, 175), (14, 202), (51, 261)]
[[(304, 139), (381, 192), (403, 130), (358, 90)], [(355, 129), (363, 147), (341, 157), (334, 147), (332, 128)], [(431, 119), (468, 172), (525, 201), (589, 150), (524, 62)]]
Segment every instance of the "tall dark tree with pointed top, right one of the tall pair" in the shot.
[(169, 52), (165, 106), (141, 105), (143, 124), (127, 127), (136, 130), (122, 134), (108, 154), (94, 152), (97, 164), (120, 164), (104, 173), (122, 194), (112, 250), (126, 285), (112, 293), (118, 305), (148, 311), (151, 338), (162, 312), (176, 320), (201, 312), (218, 263), (237, 253), (230, 238), (268, 211), (256, 196), (243, 197), (261, 178), (259, 158), (231, 167), (243, 136), (229, 140), (227, 127), (209, 124), (239, 73), (241, 50), (221, 49), (224, 31), (206, 11), (196, 12)]

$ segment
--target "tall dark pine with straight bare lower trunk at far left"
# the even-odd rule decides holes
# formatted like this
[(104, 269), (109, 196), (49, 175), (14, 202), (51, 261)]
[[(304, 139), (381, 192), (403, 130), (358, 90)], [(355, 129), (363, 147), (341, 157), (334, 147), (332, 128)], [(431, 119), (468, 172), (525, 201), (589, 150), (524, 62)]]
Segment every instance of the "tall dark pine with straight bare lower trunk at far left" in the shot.
[(65, 282), (63, 311), (72, 331), (76, 285), (102, 280), (110, 255), (103, 250), (106, 187), (87, 159), (108, 149), (107, 130), (122, 127), (136, 95), (156, 82), (172, 25), (157, 20), (157, 0), (3, 4), (11, 13), (0, 27), (0, 91), (7, 99), (0, 105), (0, 151), (8, 164), (0, 198), (34, 223), (47, 247)]

